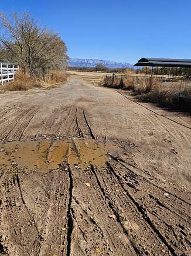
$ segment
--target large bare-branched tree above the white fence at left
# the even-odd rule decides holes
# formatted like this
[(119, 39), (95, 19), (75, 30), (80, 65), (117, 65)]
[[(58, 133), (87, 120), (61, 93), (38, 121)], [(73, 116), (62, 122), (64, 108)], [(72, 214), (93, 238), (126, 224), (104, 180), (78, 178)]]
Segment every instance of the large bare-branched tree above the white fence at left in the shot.
[(32, 15), (0, 13), (0, 59), (18, 62), (33, 75), (38, 68), (64, 68), (67, 48), (58, 34), (40, 27)]

